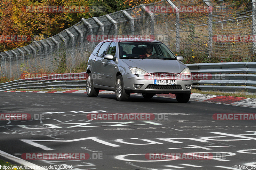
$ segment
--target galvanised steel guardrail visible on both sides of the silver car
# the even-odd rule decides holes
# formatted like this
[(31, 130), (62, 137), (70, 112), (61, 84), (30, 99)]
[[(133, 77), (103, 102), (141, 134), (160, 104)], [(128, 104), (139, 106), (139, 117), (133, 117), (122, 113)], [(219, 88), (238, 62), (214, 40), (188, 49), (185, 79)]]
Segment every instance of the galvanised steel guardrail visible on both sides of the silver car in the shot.
[[(256, 62), (187, 64), (193, 86), (202, 91), (256, 93)], [(0, 91), (14, 89), (86, 87), (86, 73), (54, 74), (0, 84)]]

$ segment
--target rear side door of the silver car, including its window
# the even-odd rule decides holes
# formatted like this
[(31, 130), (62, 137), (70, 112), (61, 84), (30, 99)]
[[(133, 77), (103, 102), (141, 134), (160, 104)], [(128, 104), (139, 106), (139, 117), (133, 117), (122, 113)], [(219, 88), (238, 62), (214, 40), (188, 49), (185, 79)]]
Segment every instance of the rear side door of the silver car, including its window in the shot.
[(107, 51), (107, 48), (108, 48), (108, 45), (109, 45), (109, 41), (107, 42), (104, 42), (98, 53), (96, 55), (94, 55), (93, 59), (92, 59), (92, 79), (93, 79), (93, 83), (94, 84), (97, 84), (97, 85), (101, 85), (102, 83), (101, 82), (101, 63), (102, 63), (102, 59), (103, 59), (103, 56), (105, 55), (106, 51)]

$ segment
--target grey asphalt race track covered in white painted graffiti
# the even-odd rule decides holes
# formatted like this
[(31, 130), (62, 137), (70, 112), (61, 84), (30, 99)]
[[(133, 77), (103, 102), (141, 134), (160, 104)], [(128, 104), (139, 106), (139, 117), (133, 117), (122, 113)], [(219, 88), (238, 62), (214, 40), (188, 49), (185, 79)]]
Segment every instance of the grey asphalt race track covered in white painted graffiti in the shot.
[[(0, 114), (31, 115), (27, 121), (0, 121), (0, 159), (13, 163), (77, 170), (256, 169), (255, 120), (212, 117), (255, 113), (255, 107), (178, 103), (164, 97), (146, 100), (141, 95), (118, 102), (114, 94), (89, 98), (83, 93), (0, 92), (0, 101)], [(156, 120), (88, 120), (88, 114), (98, 113), (152, 113)], [(21, 157), (25, 153), (86, 153), (89, 157), (25, 160)], [(213, 157), (149, 160), (147, 153), (210, 153)]]

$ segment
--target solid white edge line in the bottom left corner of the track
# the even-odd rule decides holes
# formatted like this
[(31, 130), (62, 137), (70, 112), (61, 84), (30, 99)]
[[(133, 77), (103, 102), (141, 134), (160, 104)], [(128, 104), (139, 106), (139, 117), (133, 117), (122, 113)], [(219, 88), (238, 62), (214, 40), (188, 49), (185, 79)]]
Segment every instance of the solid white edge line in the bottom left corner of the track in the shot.
[(20, 158), (17, 158), (9, 153), (6, 153), (4, 151), (1, 151), (0, 150), (0, 155), (3, 156), (4, 158), (6, 159), (10, 159), (14, 162), (17, 162), (18, 164), (21, 164), (23, 166), (32, 166), (34, 168), (31, 168), (31, 169), (34, 169), (34, 170), (38, 170), (38, 169), (41, 169), (41, 170), (47, 170), (47, 169), (44, 169), (44, 168), (41, 168), (40, 166), (36, 165), (36, 164), (32, 164), (26, 160), (23, 160), (23, 159), (20, 159)]

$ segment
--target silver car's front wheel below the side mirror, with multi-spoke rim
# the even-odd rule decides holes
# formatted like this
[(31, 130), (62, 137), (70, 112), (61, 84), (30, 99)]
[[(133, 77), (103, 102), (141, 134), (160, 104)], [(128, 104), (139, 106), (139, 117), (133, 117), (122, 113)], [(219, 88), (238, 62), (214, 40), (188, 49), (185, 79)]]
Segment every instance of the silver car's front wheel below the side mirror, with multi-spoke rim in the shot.
[(124, 81), (120, 75), (116, 77), (115, 92), (116, 100), (118, 101), (127, 101), (130, 97), (130, 93), (127, 93), (124, 90)]

